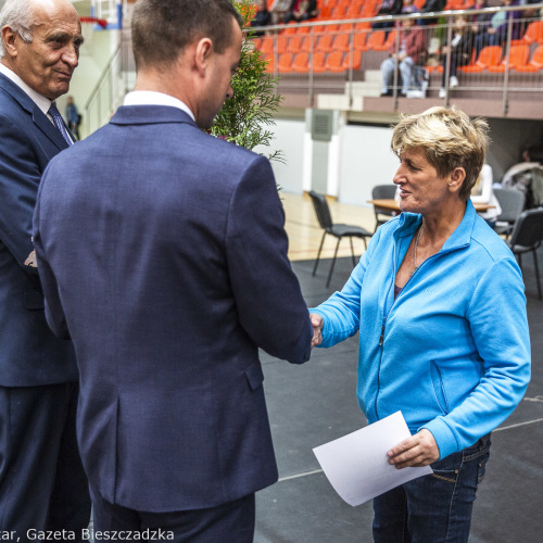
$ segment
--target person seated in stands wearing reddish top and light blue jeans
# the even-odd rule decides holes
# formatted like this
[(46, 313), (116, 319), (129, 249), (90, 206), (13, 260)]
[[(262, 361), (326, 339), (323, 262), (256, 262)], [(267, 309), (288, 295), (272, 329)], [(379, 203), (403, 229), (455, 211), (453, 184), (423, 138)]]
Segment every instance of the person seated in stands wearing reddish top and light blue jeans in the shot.
[(420, 64), (426, 53), (425, 34), (420, 27), (415, 25), (415, 20), (413, 18), (402, 21), (399, 41), (400, 50), (397, 53), (394, 40), (390, 48), (389, 58), (384, 59), (381, 63), (381, 96), (392, 96), (392, 85), (396, 67), (400, 70), (401, 93), (402, 96), (407, 96), (414, 68), (417, 64)]

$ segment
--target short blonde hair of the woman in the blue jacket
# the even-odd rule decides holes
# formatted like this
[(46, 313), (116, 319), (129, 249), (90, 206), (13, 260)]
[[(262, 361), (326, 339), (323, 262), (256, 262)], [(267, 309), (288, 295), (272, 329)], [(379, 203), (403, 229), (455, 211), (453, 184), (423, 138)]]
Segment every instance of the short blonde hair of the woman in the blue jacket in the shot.
[(397, 156), (406, 149), (422, 148), (440, 177), (463, 167), (466, 178), (458, 197), (467, 200), (484, 164), (488, 131), (489, 125), (482, 118), (470, 119), (454, 106), (435, 106), (403, 115), (392, 134), (391, 148)]

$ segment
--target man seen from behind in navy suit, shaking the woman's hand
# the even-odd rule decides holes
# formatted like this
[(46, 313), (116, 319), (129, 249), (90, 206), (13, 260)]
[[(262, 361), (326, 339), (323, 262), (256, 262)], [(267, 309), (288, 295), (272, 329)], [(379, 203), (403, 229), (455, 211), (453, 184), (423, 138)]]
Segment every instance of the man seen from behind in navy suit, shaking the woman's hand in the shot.
[(249, 542), (278, 476), (257, 350), (301, 364), (312, 326), (269, 162), (201, 129), (232, 93), (232, 4), (138, 0), (131, 24), (136, 91), (52, 161), (35, 214), (94, 529)]

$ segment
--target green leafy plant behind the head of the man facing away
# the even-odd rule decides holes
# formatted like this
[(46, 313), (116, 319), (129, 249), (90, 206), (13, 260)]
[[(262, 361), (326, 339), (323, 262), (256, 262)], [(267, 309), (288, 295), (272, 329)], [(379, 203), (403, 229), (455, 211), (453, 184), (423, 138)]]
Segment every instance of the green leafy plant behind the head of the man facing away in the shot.
[[(239, 70), (232, 77), (233, 96), (225, 102), (215, 117), (211, 134), (252, 150), (256, 146), (269, 146), (274, 135), (268, 129), (275, 125), (282, 97), (277, 92), (278, 78), (266, 72), (267, 61), (254, 48), (254, 5), (250, 0), (235, 0), (233, 4), (243, 17), (244, 38), (241, 47)], [(274, 151), (269, 160), (282, 161), (281, 151)]]

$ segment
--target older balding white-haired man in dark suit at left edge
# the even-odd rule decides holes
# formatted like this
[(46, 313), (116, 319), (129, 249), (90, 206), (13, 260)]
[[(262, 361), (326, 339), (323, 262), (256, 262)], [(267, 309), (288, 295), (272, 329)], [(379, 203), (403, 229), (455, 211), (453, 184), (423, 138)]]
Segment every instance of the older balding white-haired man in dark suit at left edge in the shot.
[(68, 90), (81, 30), (67, 0), (8, 0), (0, 28), (0, 532), (80, 539), (90, 498), (75, 432), (77, 366), (72, 343), (47, 325), (30, 253), (41, 174), (71, 142), (49, 109)]

